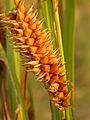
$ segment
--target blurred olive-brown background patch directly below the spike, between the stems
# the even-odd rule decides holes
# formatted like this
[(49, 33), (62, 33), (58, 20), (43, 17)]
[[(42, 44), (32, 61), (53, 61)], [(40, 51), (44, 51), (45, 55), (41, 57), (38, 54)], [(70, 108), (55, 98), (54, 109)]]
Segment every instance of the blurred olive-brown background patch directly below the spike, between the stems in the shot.
[(38, 82), (32, 73), (28, 77), (33, 95), (35, 120), (51, 120), (49, 96), (43, 83)]

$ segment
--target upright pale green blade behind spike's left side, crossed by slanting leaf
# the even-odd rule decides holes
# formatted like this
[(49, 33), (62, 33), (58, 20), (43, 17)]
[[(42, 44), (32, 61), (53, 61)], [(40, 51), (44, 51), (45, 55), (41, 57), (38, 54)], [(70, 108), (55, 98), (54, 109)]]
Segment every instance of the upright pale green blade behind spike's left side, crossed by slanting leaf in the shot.
[[(13, 2), (14, 2), (13, 0), (11, 0), (11, 1), (6, 0), (6, 12), (8, 12), (10, 10), (11, 6), (13, 8)], [(6, 36), (6, 51), (7, 51), (8, 60), (10, 62), (10, 67), (12, 68), (13, 72), (16, 73), (15, 60), (14, 60), (14, 50), (12, 49), (12, 46), (10, 45), (11, 42), (8, 40), (8, 36), (9, 36), (8, 32), (6, 33), (6, 35), (7, 35)], [(12, 115), (12, 119), (15, 119), (15, 114), (16, 114), (16, 109), (17, 109), (16, 93), (15, 93), (15, 90), (13, 88), (9, 74), (7, 74), (7, 78), (8, 78), (8, 90), (9, 90), (8, 94), (9, 94), (9, 99), (10, 99), (11, 115)]]

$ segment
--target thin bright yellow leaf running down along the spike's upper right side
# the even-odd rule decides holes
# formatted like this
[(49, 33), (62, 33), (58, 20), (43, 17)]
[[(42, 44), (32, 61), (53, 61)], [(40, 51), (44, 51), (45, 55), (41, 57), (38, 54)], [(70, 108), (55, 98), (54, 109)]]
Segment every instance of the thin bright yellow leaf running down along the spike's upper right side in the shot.
[[(53, 13), (54, 13), (56, 33), (57, 33), (56, 34), (57, 42), (58, 42), (58, 47), (59, 47), (60, 53), (62, 55), (61, 62), (63, 64), (64, 63), (64, 52), (63, 52), (61, 26), (60, 26), (59, 12), (58, 12), (58, 0), (52, 0), (52, 4), (53, 4)], [(57, 114), (59, 111), (56, 111), (56, 112), (57, 112), (56, 113), (56, 120), (58, 120)], [(65, 111), (63, 113), (60, 111), (59, 112), (59, 119), (62, 120), (63, 118), (65, 119)]]

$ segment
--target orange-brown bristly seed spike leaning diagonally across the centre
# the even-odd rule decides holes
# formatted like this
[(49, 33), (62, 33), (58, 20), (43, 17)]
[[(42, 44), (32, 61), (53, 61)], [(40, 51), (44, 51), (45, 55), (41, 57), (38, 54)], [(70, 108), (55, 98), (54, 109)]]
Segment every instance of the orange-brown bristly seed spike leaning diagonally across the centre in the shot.
[(60, 109), (70, 106), (71, 91), (60, 59), (51, 51), (49, 32), (42, 28), (44, 20), (37, 18), (38, 11), (25, 8), (22, 0), (15, 0), (16, 8), (1, 14), (2, 22), (8, 26), (16, 49), (24, 56), (27, 71), (33, 71), (49, 92), (50, 100)]

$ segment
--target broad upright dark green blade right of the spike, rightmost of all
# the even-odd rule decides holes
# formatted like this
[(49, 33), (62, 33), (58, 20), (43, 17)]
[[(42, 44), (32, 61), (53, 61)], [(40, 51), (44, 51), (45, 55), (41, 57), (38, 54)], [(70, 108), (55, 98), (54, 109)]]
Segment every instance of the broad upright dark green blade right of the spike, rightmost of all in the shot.
[[(64, 17), (64, 51), (67, 63), (67, 79), (74, 86), (74, 47), (75, 47), (75, 0), (65, 0), (66, 9)], [(73, 92), (71, 95), (72, 109), (66, 110), (67, 120), (73, 120)]]

